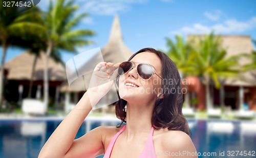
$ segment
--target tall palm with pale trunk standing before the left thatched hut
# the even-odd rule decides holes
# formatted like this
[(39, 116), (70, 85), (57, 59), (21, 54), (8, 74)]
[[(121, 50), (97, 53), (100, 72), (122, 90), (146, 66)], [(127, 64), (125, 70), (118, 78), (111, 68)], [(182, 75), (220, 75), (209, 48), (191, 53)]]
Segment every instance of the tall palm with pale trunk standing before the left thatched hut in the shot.
[(48, 59), (54, 53), (53, 50), (66, 50), (76, 52), (76, 47), (84, 46), (92, 43), (85, 37), (92, 36), (95, 33), (91, 30), (78, 29), (75, 26), (82, 18), (88, 16), (82, 13), (74, 17), (75, 11), (78, 9), (73, 1), (59, 0), (53, 5), (50, 2), (48, 12), (44, 14), (44, 27), (46, 28), (46, 60), (44, 71), (44, 102), (48, 104)]

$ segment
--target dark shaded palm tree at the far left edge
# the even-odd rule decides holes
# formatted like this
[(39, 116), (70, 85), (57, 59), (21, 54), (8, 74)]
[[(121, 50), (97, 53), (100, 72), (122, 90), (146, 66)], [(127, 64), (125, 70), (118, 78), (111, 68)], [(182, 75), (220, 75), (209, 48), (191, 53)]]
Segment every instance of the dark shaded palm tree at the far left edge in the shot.
[[(28, 34), (38, 35), (37, 30), (44, 30), (40, 25), (33, 21), (29, 21), (27, 17), (27, 12), (14, 16), (7, 16), (3, 9), (3, 5), (0, 5), (0, 43), (2, 44), (3, 49), (0, 74), (0, 107), (2, 107), (4, 64), (8, 47), (24, 47), (27, 43), (25, 39)], [(37, 16), (34, 16), (33, 20), (36, 19)]]

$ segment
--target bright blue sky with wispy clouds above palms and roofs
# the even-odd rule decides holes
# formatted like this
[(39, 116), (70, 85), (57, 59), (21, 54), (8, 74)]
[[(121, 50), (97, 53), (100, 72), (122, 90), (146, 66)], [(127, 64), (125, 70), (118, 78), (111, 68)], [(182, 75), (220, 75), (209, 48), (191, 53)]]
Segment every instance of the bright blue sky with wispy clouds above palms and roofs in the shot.
[[(119, 15), (123, 40), (133, 52), (145, 47), (165, 50), (165, 37), (175, 34), (203, 34), (215, 30), (217, 34), (250, 35), (256, 39), (256, 1), (178, 1), (178, 0), (77, 0), (79, 10), (90, 16), (78, 28), (94, 30), (90, 38), (95, 44), (78, 48), (83, 52), (102, 48), (109, 39), (115, 14)], [(38, 6), (46, 10), (49, 2), (42, 0)], [(2, 51), (2, 49), (1, 49)], [(9, 48), (6, 61), (24, 50)], [(74, 54), (64, 53), (66, 62)]]

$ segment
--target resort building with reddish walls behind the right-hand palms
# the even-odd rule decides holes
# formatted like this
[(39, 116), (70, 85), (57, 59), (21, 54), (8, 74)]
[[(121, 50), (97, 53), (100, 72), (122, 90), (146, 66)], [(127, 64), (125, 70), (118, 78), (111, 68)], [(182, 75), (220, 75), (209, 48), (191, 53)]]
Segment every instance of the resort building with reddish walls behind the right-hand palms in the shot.
[[(188, 35), (187, 41), (202, 39), (203, 35)], [(254, 50), (250, 36), (245, 35), (221, 35), (221, 47), (226, 50), (226, 57), (241, 53), (251, 54)], [(249, 63), (248, 59), (240, 58), (241, 65)], [(196, 108), (205, 109), (205, 84), (198, 77), (188, 77), (188, 94), (190, 99), (197, 98)], [(256, 110), (256, 70), (240, 73), (237, 78), (227, 78), (220, 81), (223, 89), (216, 89), (214, 83), (210, 85), (210, 95), (214, 105), (220, 106), (221, 97), (224, 99), (226, 108)], [(223, 91), (222, 91), (223, 90)]]

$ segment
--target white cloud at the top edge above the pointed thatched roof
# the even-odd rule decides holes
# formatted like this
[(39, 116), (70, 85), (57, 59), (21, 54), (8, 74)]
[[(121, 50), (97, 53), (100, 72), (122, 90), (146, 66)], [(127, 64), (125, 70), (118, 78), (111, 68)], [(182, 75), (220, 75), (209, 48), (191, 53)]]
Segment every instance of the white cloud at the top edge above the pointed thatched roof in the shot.
[(147, 0), (88, 0), (83, 1), (81, 9), (90, 14), (113, 15), (130, 10), (132, 4), (144, 3)]

